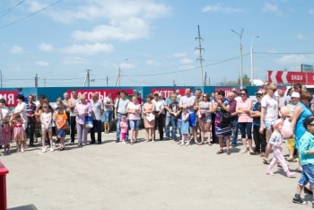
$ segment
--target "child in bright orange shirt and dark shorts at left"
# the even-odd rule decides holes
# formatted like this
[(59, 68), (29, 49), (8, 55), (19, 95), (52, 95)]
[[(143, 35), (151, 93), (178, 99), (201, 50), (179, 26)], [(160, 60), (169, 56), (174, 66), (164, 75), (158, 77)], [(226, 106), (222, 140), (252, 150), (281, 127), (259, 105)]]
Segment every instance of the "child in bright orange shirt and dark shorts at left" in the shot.
[(66, 133), (66, 120), (65, 109), (63, 106), (57, 107), (57, 138), (60, 139), (60, 151), (65, 150), (65, 133)]

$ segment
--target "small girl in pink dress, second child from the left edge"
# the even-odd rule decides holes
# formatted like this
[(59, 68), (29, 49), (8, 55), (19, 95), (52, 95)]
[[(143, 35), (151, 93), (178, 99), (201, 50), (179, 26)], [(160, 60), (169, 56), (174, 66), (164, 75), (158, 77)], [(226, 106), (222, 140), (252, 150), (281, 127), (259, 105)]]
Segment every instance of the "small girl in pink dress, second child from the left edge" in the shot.
[(16, 141), (16, 152), (24, 152), (23, 142), (26, 141), (26, 134), (22, 127), (23, 123), (26, 122), (25, 119), (21, 117), (20, 114), (15, 114), (10, 119), (10, 122), (14, 126), (13, 128), (13, 140)]

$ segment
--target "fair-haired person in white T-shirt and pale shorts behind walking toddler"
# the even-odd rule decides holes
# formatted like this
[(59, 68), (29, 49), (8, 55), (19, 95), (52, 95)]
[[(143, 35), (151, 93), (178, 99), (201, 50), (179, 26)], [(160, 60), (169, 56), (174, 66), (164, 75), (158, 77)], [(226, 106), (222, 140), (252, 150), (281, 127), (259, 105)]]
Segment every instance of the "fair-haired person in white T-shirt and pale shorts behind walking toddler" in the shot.
[[(266, 129), (266, 142), (268, 143), (270, 136), (274, 131), (273, 123), (278, 118), (278, 102), (275, 98), (277, 85), (275, 83), (268, 83), (265, 88), (266, 92), (261, 101), (262, 111), (260, 114), (260, 128), (259, 133), (263, 134)], [(268, 155), (272, 148), (272, 144), (266, 145), (266, 152), (263, 158), (265, 164), (269, 164)]]

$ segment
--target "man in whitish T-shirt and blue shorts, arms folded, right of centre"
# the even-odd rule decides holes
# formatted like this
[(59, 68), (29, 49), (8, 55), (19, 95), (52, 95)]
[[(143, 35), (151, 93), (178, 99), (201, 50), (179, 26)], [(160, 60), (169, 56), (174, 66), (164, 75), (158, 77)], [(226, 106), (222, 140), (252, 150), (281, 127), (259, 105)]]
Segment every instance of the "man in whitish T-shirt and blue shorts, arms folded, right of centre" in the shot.
[(188, 114), (189, 114), (188, 123), (189, 123), (189, 127), (192, 127), (194, 141), (195, 141), (196, 144), (198, 144), (198, 142), (197, 142), (196, 114), (194, 112), (194, 106), (196, 104), (196, 97), (193, 96), (191, 93), (192, 93), (191, 88), (190, 87), (186, 88), (186, 95), (182, 96), (180, 98), (179, 108), (188, 109)]

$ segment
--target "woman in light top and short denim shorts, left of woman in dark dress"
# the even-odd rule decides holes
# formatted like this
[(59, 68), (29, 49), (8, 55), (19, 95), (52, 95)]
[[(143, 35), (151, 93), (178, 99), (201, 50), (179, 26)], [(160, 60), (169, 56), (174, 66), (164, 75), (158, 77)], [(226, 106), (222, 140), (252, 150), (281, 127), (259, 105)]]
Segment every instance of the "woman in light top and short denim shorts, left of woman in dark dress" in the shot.
[[(212, 125), (212, 102), (209, 99), (208, 93), (203, 94), (203, 101), (199, 102), (198, 119), (199, 129), (201, 130), (201, 144), (205, 141), (205, 129), (207, 133), (207, 143), (211, 141), (211, 125)], [(199, 144), (200, 145), (200, 144)]]

